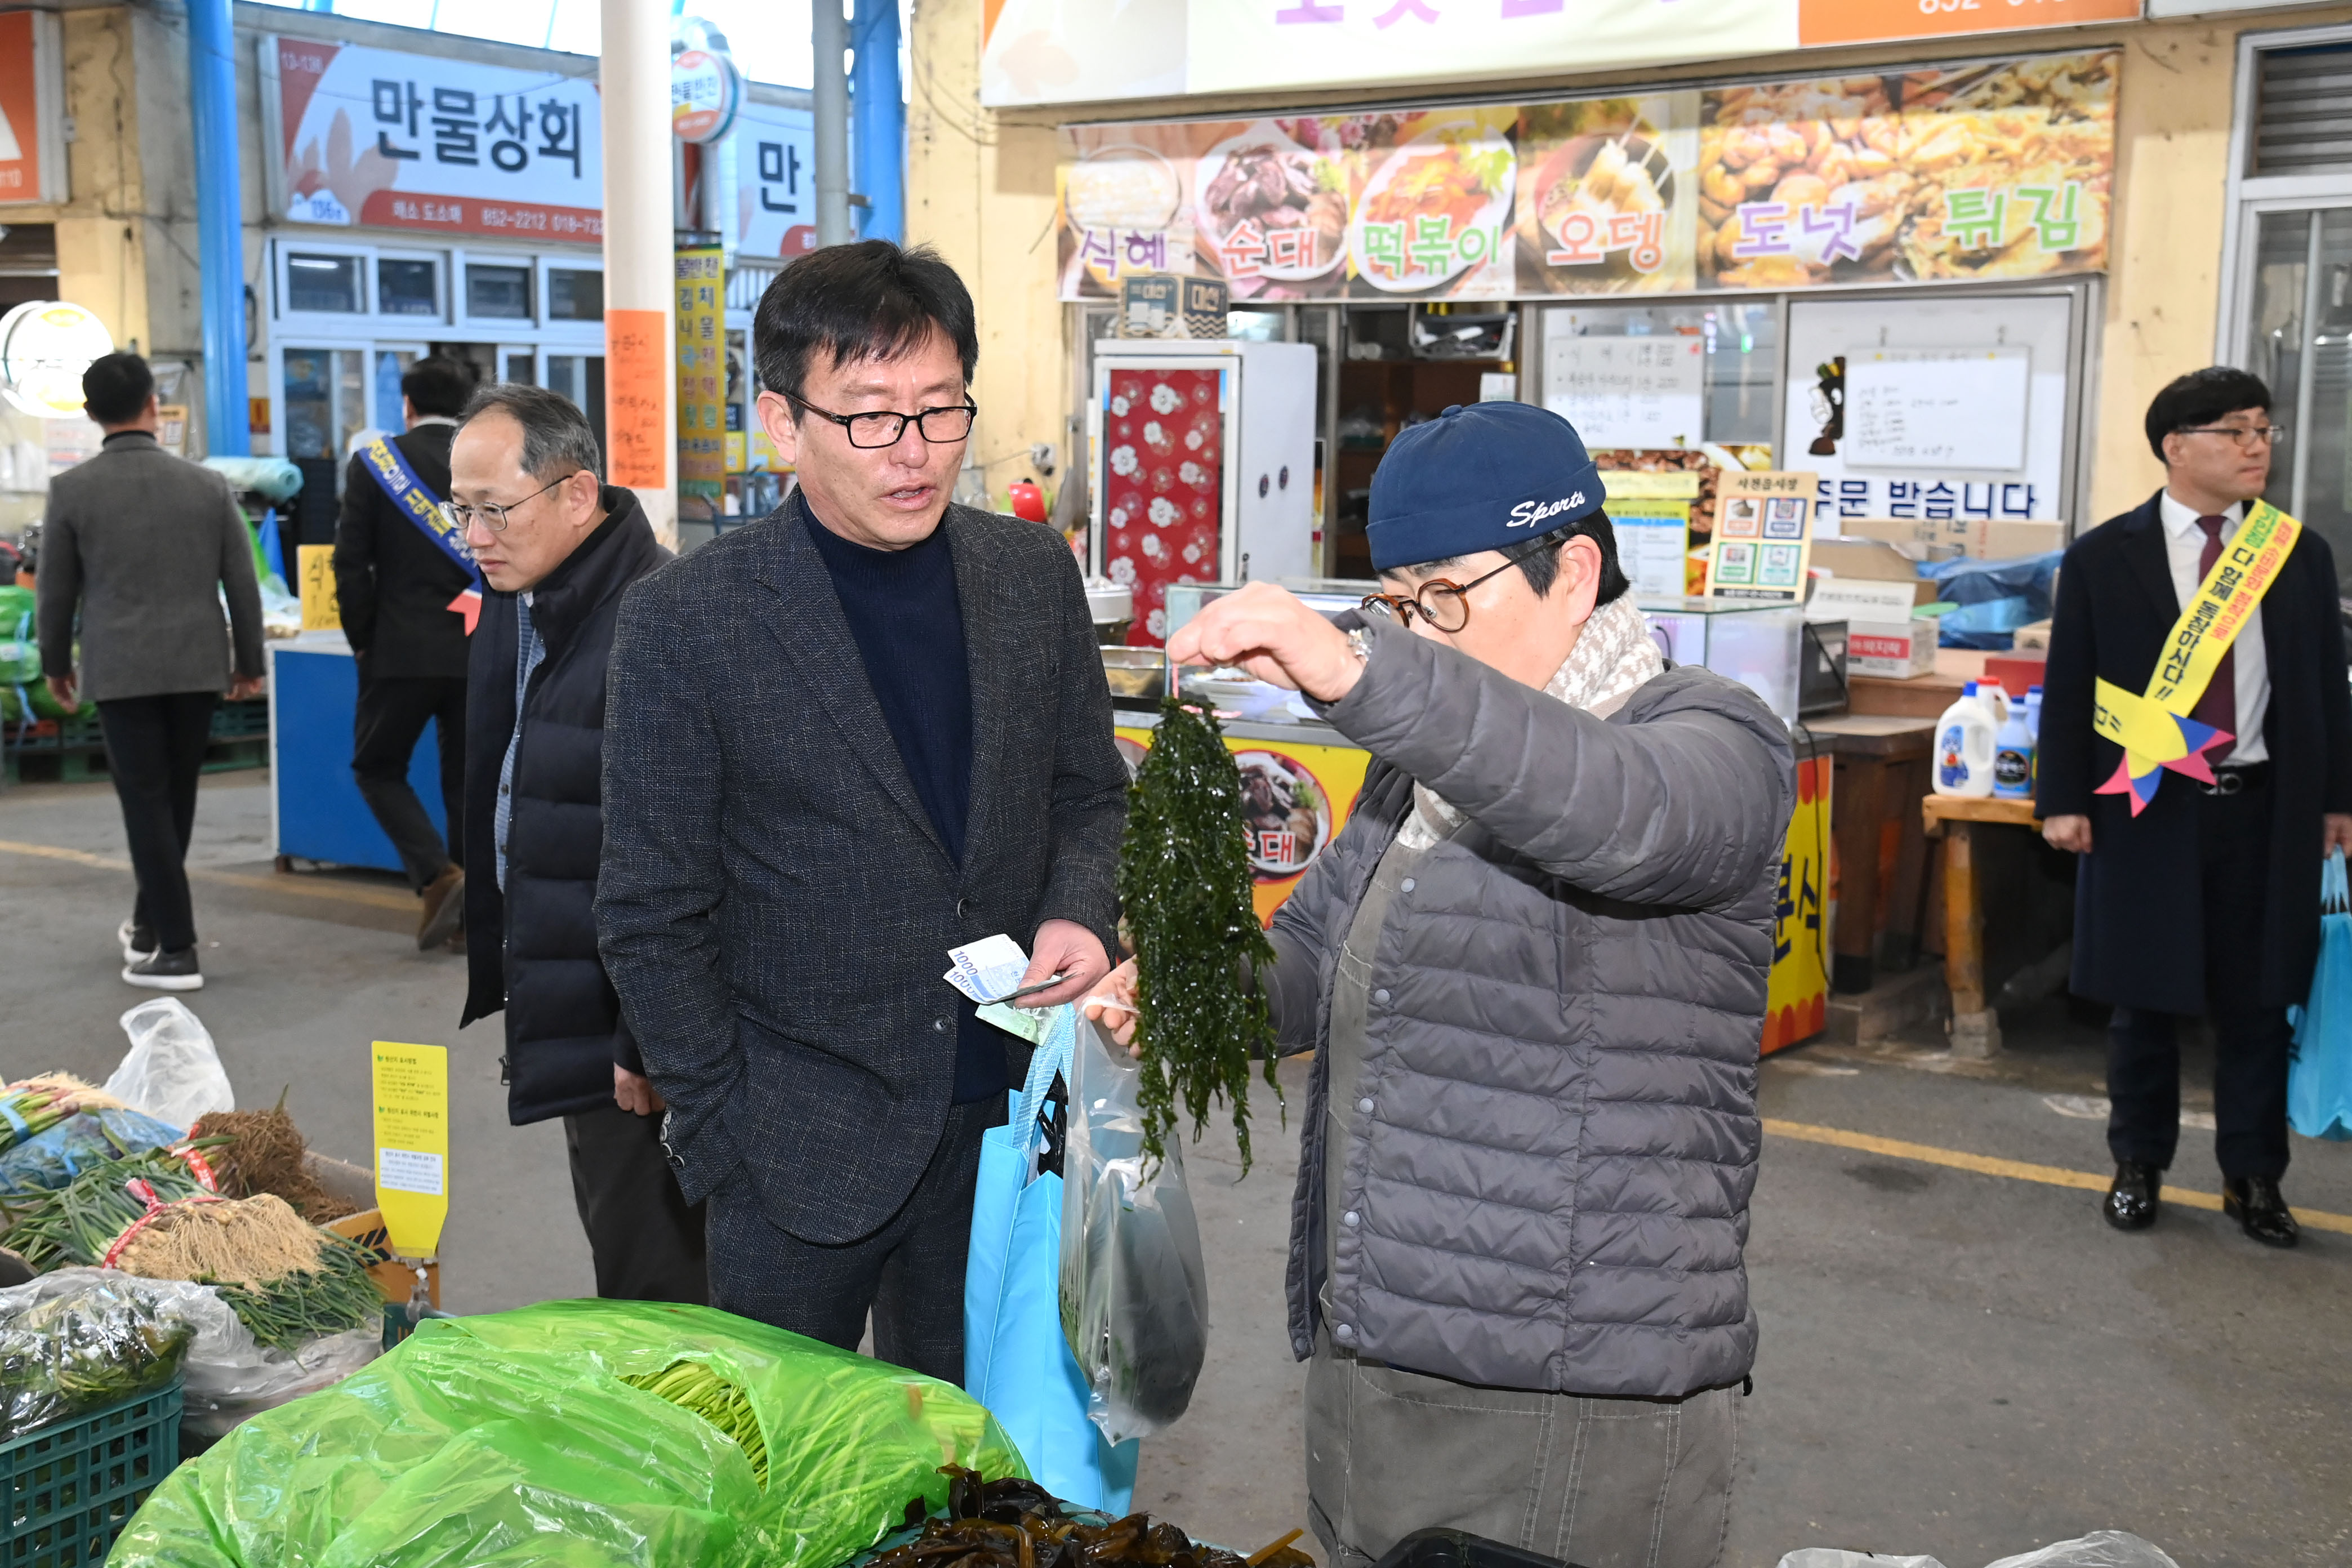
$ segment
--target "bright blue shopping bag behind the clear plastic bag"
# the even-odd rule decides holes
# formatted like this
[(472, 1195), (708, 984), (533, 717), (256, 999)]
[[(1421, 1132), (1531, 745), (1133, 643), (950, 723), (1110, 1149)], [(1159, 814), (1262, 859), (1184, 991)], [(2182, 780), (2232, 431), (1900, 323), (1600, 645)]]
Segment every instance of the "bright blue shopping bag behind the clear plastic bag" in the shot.
[(1054, 1009), (1011, 1124), (981, 1138), (964, 1269), (964, 1392), (1014, 1439), (1037, 1486), (1124, 1519), (1138, 1443), (1108, 1443), (1087, 1420), (1087, 1378), (1061, 1335), (1061, 1178), (1037, 1173), (1037, 1117), (1054, 1074), (1068, 1074), (1075, 1039), (1077, 1009)]

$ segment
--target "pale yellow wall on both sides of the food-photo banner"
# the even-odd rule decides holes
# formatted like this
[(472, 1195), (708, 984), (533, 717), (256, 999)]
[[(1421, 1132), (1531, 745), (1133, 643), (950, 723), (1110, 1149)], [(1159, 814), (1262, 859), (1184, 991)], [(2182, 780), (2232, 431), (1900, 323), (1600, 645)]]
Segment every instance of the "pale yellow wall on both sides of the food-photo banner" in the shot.
[[(929, 240), (964, 273), (981, 313), (978, 444), (990, 489), (1018, 477), (1030, 442), (1056, 442), (1068, 461), (1063, 310), (1054, 301), (1054, 113), (978, 106), (983, 0), (927, 0), (915, 9), (915, 89), (908, 118), (908, 235)], [(1731, 66), (1604, 78), (1498, 82), (1508, 92), (1595, 92), (1625, 80), (1788, 75), (1997, 52), (2124, 45), (2117, 106), (2114, 242), (2089, 416), (2089, 527), (2138, 505), (2161, 480), (2140, 416), (2173, 376), (2213, 362), (2220, 327), (2220, 252), (2227, 221), (2230, 115), (2237, 38), (2244, 31), (2352, 21), (2352, 7), (2251, 21), (2133, 24), (2011, 38), (1940, 40), (1903, 49), (1813, 52)], [(1084, 118), (1152, 120), (1258, 108), (1312, 108), (1364, 94), (1291, 94), (1230, 103), (1162, 99), (1105, 106)]]

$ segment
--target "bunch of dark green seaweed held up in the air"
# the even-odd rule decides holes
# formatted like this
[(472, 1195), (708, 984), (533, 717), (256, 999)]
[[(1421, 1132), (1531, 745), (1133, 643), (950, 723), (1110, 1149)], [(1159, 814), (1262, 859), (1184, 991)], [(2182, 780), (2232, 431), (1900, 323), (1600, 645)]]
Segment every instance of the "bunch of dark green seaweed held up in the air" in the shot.
[[(1160, 1159), (1176, 1103), (1197, 1138), (1209, 1100), (1232, 1105), (1249, 1173), (1249, 1058), (1275, 1084), (1275, 1020), (1258, 973), (1275, 961), (1251, 905), (1242, 771), (1204, 708), (1169, 696), (1127, 792), (1120, 903), (1136, 943), (1143, 1150)], [(1247, 971), (1247, 973), (1244, 973)]]

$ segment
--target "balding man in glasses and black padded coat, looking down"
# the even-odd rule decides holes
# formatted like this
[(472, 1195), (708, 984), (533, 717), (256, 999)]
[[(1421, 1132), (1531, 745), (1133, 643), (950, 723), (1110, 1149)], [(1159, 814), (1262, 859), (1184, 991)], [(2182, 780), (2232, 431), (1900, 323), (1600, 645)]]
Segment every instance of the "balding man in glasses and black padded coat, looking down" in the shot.
[(602, 484), (588, 416), (492, 386), (449, 451), (452, 512), (489, 592), (466, 722), (461, 1025), (506, 1009), (508, 1117), (564, 1119), (597, 1295), (703, 1302), (703, 1213), (661, 1157), (661, 1095), (595, 952), (604, 670), (621, 590), (670, 559)]

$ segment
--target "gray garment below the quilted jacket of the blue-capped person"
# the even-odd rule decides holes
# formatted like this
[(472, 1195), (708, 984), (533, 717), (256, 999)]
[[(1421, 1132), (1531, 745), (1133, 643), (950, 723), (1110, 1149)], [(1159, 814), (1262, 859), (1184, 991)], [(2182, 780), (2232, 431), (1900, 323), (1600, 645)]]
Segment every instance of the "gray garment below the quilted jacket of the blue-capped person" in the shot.
[(1738, 1389), (1682, 1401), (1484, 1389), (1315, 1333), (1308, 1521), (1334, 1568), (1446, 1526), (1578, 1568), (1710, 1568), (1731, 1523)]

